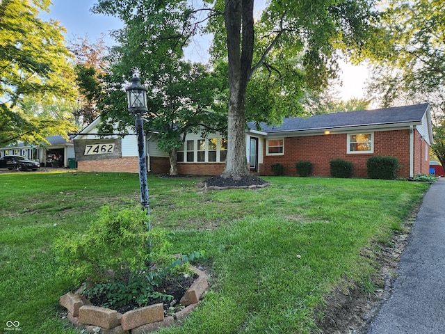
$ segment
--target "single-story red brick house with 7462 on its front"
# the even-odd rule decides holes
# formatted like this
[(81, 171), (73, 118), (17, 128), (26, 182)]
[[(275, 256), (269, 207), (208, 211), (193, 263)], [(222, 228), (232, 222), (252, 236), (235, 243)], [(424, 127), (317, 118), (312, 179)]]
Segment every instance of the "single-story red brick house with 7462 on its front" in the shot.
[[(74, 137), (79, 170), (138, 173), (134, 135), (99, 138), (99, 118)], [(366, 160), (372, 155), (397, 157), (398, 177), (429, 173), (432, 141), (428, 104), (371, 111), (329, 113), (309, 118), (285, 118), (280, 126), (255, 126), (245, 132), (250, 171), (272, 175), (270, 166), (282, 164), (285, 175), (297, 175), (295, 163), (309, 160), (314, 176), (330, 176), (330, 160), (353, 162), (354, 177), (367, 177)], [(220, 175), (225, 168), (227, 141), (220, 134), (202, 138), (187, 134), (178, 152), (180, 174)], [(156, 134), (147, 137), (147, 170), (168, 173), (168, 154), (160, 152)]]

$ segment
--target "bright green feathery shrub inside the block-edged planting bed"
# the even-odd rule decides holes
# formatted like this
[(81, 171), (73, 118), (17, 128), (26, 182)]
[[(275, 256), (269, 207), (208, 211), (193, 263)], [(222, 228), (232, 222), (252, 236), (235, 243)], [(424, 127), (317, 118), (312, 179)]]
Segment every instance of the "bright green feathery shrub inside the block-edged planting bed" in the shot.
[(60, 272), (71, 276), (74, 283), (86, 278), (104, 282), (143, 271), (152, 261), (170, 261), (172, 257), (166, 259), (170, 235), (165, 230), (148, 232), (146, 223), (147, 214), (140, 206), (102, 207), (88, 230), (55, 241), (63, 263)]

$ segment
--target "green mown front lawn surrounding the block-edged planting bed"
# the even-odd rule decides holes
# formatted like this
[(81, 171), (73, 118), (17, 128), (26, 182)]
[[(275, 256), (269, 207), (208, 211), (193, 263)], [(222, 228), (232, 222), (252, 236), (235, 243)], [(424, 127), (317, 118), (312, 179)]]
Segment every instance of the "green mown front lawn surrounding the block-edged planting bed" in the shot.
[[(264, 178), (265, 189), (205, 191), (195, 187), (204, 177), (149, 177), (152, 225), (175, 231), (172, 253), (204, 250), (211, 285), (182, 326), (161, 333), (318, 333), (325, 296), (369, 282), (378, 269), (362, 250), (401, 230), (428, 189)], [(8, 173), (0, 184), (0, 324), (79, 333), (59, 317), (58, 297), (76, 287), (58, 275), (54, 239), (88, 228), (105, 203), (138, 202), (138, 175)]]

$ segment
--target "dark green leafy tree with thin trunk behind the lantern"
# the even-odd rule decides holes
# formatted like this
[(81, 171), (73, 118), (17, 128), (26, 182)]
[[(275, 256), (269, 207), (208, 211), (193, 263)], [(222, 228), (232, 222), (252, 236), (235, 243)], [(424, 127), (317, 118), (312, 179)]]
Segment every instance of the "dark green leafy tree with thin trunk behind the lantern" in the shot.
[(124, 28), (113, 35), (111, 73), (105, 79), (106, 95), (100, 102), (102, 129), (125, 132), (133, 118), (127, 111), (122, 88), (137, 70), (148, 88), (147, 129), (154, 130), (159, 149), (170, 156), (170, 174), (177, 174), (177, 149), (192, 129), (220, 131), (218, 78), (204, 67), (183, 60), (191, 31), (184, 26), (190, 11), (184, 1), (99, 1), (94, 11), (119, 17)]

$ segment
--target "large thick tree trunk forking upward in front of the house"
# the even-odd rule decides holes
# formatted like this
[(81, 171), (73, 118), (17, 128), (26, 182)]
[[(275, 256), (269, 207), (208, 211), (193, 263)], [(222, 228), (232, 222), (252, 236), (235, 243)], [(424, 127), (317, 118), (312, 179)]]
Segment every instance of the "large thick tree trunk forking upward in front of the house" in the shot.
[(229, 60), (229, 119), (227, 163), (222, 176), (241, 177), (249, 174), (245, 150), (245, 92), (252, 67), (253, 0), (225, 0), (225, 26)]

